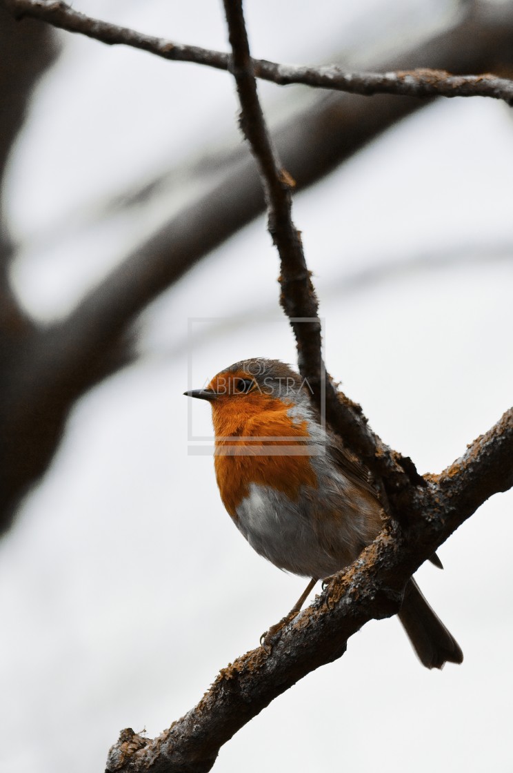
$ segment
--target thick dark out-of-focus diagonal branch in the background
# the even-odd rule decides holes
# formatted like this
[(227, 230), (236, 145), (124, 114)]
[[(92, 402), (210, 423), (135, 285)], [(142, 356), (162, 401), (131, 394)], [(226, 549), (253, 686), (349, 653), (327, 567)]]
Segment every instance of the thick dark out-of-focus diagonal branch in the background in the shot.
[[(21, 88), (16, 90), (14, 102), (12, 79), (5, 81), (0, 95), (12, 109), (10, 128), (3, 139), (5, 165), (30, 85), (49, 63), (50, 55), (44, 52), (49, 52), (52, 44), (48, 28), (29, 20), (17, 26), (5, 8), (2, 14), (2, 35), (6, 36), (2, 53), (9, 66), (15, 62), (12, 51), (30, 51), (33, 56), (31, 66), (27, 56), (23, 66), (15, 67)], [(494, 9), (488, 4), (476, 4), (453, 29), (386, 62), (370, 64), (386, 71), (432, 67), (451, 73), (494, 70), (507, 75), (513, 60), (512, 40), (513, 4)], [(38, 46), (42, 53), (37, 54)], [(273, 141), (297, 190), (301, 190), (428, 102), (389, 95), (372, 99), (353, 94), (315, 97), (300, 114), (273, 132)], [(77, 397), (127, 363), (131, 356), (127, 335), (137, 315), (210, 250), (262, 211), (263, 196), (253, 159), (236, 154), (233, 162), (213, 175), (206, 192), (139, 244), (67, 318), (45, 327), (19, 312), (5, 272), (1, 346), (9, 367), (3, 371), (0, 409), (2, 529), (11, 523), (20, 497), (53, 457)], [(7, 255), (10, 240), (5, 226), (2, 243)]]

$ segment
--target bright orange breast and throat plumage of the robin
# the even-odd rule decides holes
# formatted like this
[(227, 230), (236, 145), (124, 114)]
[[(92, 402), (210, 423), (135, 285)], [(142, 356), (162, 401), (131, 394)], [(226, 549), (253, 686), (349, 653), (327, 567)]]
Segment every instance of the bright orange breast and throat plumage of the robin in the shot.
[(293, 501), (301, 486), (317, 488), (307, 448), (301, 452), (310, 438), (307, 421), (294, 421), (288, 415), (290, 407), (258, 392), (223, 397), (212, 404), (217, 484), (233, 519), (251, 483), (271, 486)]

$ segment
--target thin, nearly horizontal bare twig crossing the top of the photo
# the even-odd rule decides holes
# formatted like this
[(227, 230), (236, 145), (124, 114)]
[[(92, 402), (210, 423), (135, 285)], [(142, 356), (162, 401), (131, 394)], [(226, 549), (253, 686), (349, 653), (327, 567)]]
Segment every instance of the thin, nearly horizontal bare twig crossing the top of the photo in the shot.
[[(191, 62), (229, 69), (229, 54), (223, 51), (189, 46), (171, 40), (144, 35), (128, 27), (93, 19), (75, 11), (61, 0), (4, 0), (12, 13), (21, 19), (32, 16), (68, 32), (107, 43), (141, 49), (163, 59)], [(491, 97), (513, 104), (513, 81), (491, 73), (451, 75), (445, 70), (418, 68), (389, 73), (346, 73), (339, 66), (304, 66), (252, 60), (257, 78), (279, 86), (302, 83), (314, 88), (346, 91), (350, 94), (398, 94), (407, 97)]]

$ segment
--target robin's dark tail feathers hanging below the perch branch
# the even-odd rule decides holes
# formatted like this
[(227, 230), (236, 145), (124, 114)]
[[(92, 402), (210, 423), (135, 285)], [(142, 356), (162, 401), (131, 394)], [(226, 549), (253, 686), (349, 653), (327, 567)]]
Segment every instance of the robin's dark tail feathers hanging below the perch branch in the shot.
[(399, 620), (426, 668), (441, 669), (446, 662), (463, 662), (460, 645), (431, 609), (413, 577), (406, 584)]

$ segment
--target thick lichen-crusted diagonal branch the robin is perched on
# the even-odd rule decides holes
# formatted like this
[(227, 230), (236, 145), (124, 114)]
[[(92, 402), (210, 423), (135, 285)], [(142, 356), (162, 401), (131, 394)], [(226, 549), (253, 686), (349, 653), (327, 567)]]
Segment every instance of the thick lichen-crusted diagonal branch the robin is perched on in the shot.
[(513, 485), (513, 409), (450, 468), (416, 490), (415, 527), (380, 534), (273, 642), (222, 669), (202, 700), (157, 738), (123, 730), (107, 773), (205, 773), (219, 748), (274, 698), (341, 657), (350, 636), (399, 610), (411, 574), (496, 492)]

